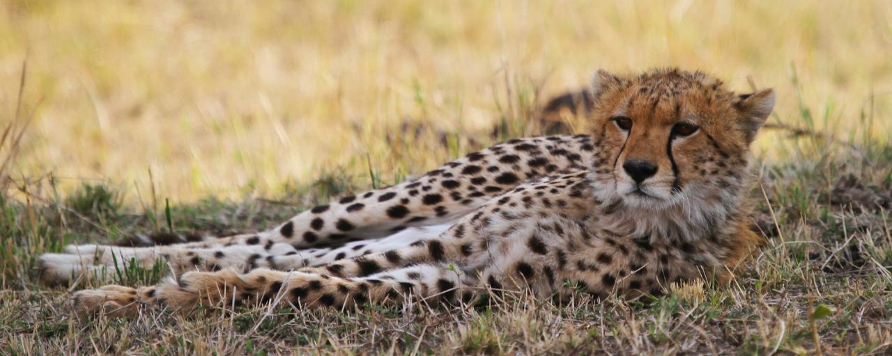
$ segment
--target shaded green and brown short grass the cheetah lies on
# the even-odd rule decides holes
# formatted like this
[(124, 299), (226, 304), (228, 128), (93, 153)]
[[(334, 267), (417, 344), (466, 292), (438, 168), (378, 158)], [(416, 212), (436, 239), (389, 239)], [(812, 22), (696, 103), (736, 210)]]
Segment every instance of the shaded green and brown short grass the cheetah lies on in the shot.
[[(760, 226), (773, 225), (773, 212), (780, 230), (769, 231), (770, 242), (751, 268), (729, 287), (681, 288), (648, 304), (596, 303), (581, 294), (555, 305), (507, 295), (476, 308), (257, 308), (191, 320), (148, 311), (136, 320), (84, 323), (72, 319), (66, 304), (70, 290), (37, 283), (37, 255), (72, 241), (124, 239), (159, 226), (167, 230), (168, 216), (176, 232), (259, 231), (312, 202), (369, 188), (372, 177), (381, 176), (374, 168), (372, 177), (322, 174), (282, 197), (206, 198), (170, 206), (169, 214), (163, 208), (154, 214), (151, 204), (117, 205), (113, 197), (121, 192), (110, 184), (86, 185), (58, 197), (34, 182), (29, 194), (35, 198), (0, 200), (0, 320), (8, 320), (0, 325), (0, 353), (811, 354), (819, 347), (830, 354), (889, 352), (892, 146), (871, 142), (855, 151), (814, 140), (784, 141), (798, 152), (787, 163), (753, 165), (761, 174), (752, 193), (764, 220)], [(38, 196), (55, 198), (37, 204)], [(111, 272), (127, 284), (153, 283), (166, 273), (163, 266)]]

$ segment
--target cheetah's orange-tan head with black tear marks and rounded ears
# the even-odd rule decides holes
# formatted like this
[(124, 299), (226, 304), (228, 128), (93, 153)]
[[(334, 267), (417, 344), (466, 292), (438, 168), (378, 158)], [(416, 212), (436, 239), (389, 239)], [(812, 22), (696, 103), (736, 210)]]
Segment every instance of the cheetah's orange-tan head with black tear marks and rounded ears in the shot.
[(747, 150), (772, 91), (736, 95), (703, 73), (657, 69), (593, 78), (596, 191), (624, 206), (665, 209), (739, 198)]

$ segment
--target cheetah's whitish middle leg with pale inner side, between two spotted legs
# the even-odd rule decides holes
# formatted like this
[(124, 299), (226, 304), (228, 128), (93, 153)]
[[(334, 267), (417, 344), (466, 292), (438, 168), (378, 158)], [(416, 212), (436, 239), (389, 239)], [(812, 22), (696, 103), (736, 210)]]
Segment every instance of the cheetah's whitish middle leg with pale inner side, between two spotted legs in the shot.
[(140, 268), (152, 268), (155, 263), (169, 265), (175, 275), (186, 271), (219, 271), (233, 268), (250, 271), (266, 267), (273, 270), (291, 271), (303, 267), (320, 266), (360, 255), (380, 254), (393, 249), (408, 247), (419, 239), (438, 236), (450, 225), (410, 228), (384, 239), (359, 240), (342, 247), (309, 248), (297, 250), (288, 244), (232, 245), (228, 247), (194, 248), (174, 246), (159, 247), (69, 247), (68, 254), (41, 256), (41, 278), (48, 284), (62, 283), (81, 275), (99, 281), (110, 281), (115, 271), (131, 264)]

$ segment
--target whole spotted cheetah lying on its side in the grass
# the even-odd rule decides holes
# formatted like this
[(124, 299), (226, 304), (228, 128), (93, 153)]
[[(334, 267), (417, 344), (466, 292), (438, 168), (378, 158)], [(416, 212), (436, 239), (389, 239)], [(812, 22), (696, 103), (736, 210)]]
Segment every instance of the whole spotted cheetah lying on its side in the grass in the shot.
[(597, 71), (587, 134), (515, 139), (410, 182), (315, 206), (269, 231), (167, 246), (71, 246), (46, 282), (115, 263), (172, 276), (73, 295), (78, 315), (266, 303), (472, 303), (492, 293), (640, 298), (727, 281), (764, 243), (751, 231), (748, 150), (771, 89), (736, 94), (700, 71)]

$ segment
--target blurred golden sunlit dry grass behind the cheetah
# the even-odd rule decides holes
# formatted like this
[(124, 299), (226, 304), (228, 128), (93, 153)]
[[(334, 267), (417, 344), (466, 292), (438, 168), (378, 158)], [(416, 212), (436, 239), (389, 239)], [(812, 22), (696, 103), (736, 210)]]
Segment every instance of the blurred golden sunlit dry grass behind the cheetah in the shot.
[[(888, 140), (890, 19), (888, 1), (7, 0), (0, 128), (34, 114), (0, 158), (10, 190), (52, 176), (128, 199), (374, 185), (537, 134), (537, 108), (594, 69), (653, 66), (774, 87), (773, 123)], [(783, 159), (780, 137), (757, 155)]]

